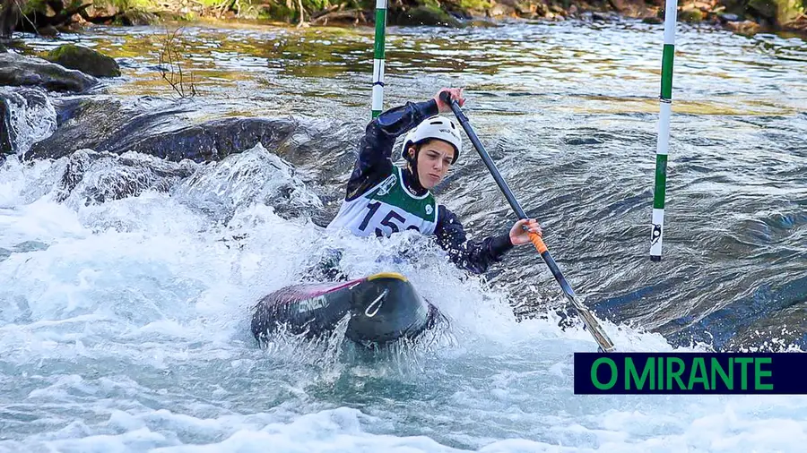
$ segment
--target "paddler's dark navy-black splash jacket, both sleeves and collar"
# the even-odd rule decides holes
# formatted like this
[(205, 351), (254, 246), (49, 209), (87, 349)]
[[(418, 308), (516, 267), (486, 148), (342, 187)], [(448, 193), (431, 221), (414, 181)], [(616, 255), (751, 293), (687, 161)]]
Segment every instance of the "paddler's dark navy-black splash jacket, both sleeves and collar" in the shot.
[[(359, 158), (348, 181), (345, 199), (356, 199), (392, 175), (395, 139), (432, 115), (438, 115), (434, 99), (390, 108), (371, 121), (359, 141)], [(401, 173), (411, 192), (417, 195), (427, 192), (413, 180), (409, 169)], [(513, 248), (508, 234), (489, 236), (481, 242), (468, 240), (463, 225), (445, 206), (438, 205), (437, 222), (434, 235), (440, 247), (458, 267), (474, 273), (485, 272), (491, 263), (500, 261), (504, 253)]]

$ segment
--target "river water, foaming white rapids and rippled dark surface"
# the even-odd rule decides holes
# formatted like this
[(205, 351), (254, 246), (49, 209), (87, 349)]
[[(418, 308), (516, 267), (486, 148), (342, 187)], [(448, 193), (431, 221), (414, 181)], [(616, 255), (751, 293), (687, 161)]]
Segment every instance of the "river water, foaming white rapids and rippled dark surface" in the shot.
[[(199, 93), (183, 106), (317, 132), (287, 151), (299, 192), (333, 213), (369, 120), (372, 30), (222, 27), (178, 37)], [(103, 96), (163, 105), (165, 32), (17, 47), (95, 47), (124, 72)], [(651, 263), (661, 48), (661, 26), (636, 21), (392, 28), (385, 105), (465, 88), (473, 127), (621, 350), (802, 350), (807, 42), (679, 25), (664, 260)], [(64, 158), (0, 167), (0, 451), (803, 450), (807, 397), (573, 395), (572, 355), (595, 345), (559, 327), (560, 288), (529, 247), (468, 278), (417, 238), (325, 235), (254, 202), (265, 181), (231, 177), (233, 163), (263, 168), (261, 152), (198, 166), (206, 185), (100, 204), (56, 201)], [(204, 187), (227, 194), (224, 220)], [(438, 200), (475, 238), (515, 220), (470, 149)], [(347, 251), (352, 277), (403, 272), (452, 328), (381, 356), (257, 348), (249, 307), (325, 246)], [(389, 259), (403, 249), (421, 259)]]

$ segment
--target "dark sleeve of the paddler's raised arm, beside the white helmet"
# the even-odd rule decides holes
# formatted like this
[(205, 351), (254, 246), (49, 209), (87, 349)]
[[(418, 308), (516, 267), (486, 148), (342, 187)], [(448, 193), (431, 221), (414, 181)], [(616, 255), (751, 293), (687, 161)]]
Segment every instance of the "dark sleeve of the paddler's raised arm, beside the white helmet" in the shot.
[(370, 121), (359, 141), (359, 158), (347, 184), (347, 200), (352, 200), (380, 183), (393, 169), (395, 139), (409, 132), (424, 119), (438, 114), (437, 102), (407, 102), (382, 112)]

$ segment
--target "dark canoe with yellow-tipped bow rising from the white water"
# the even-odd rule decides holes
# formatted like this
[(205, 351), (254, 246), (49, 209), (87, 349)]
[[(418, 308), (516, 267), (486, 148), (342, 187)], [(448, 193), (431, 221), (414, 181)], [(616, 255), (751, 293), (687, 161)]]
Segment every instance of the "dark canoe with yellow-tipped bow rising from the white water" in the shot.
[(264, 344), (278, 329), (322, 337), (349, 316), (345, 337), (361, 346), (416, 338), (442, 315), (403, 275), (385, 272), (347, 282), (287, 286), (256, 304), (252, 333)]

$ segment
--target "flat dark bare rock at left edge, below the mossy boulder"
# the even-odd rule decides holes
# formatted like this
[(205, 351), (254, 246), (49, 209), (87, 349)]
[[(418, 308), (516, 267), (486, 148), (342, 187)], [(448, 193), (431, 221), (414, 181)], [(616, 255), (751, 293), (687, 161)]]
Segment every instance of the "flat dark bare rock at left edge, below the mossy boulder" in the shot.
[(65, 69), (41, 58), (0, 53), (0, 85), (38, 86), (56, 91), (85, 91), (97, 84), (91, 75)]

